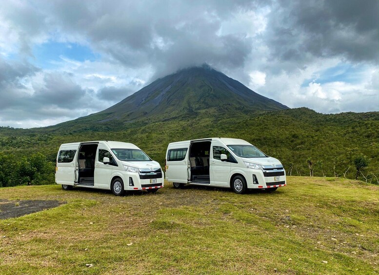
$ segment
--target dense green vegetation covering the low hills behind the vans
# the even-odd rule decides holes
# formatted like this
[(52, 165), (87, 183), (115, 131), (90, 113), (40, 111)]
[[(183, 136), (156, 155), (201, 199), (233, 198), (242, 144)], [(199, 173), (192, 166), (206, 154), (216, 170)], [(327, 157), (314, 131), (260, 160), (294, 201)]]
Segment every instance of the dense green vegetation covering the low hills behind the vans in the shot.
[[(47, 128), (0, 128), (0, 151), (20, 161), (41, 153), (55, 163), (60, 144), (89, 140), (131, 142), (164, 165), (168, 143), (204, 137), (241, 138), (278, 158), (287, 174), (346, 177), (378, 183), (379, 112), (320, 114), (306, 108), (224, 113), (186, 112), (171, 120), (99, 123), (96, 116)], [(359, 170), (357, 170), (357, 165)], [(50, 169), (50, 176), (54, 169)], [(51, 179), (51, 177), (50, 177)], [(25, 181), (20, 181), (25, 183)]]

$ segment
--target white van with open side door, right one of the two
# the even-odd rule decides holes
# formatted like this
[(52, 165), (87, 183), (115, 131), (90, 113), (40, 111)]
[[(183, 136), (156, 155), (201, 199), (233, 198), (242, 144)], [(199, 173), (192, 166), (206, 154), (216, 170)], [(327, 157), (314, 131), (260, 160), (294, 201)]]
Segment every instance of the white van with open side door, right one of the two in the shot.
[(166, 152), (166, 180), (175, 188), (185, 183), (275, 191), (286, 185), (283, 165), (247, 141), (208, 138), (170, 143)]

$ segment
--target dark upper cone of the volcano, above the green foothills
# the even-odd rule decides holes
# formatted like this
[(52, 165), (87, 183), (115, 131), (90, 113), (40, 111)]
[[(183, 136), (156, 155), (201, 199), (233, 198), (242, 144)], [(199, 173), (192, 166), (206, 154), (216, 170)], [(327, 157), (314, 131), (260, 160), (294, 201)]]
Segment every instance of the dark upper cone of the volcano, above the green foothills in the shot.
[(288, 107), (203, 65), (157, 79), (120, 103), (94, 115), (105, 122), (112, 119), (130, 121), (141, 117), (167, 119), (202, 110), (246, 113), (283, 109)]

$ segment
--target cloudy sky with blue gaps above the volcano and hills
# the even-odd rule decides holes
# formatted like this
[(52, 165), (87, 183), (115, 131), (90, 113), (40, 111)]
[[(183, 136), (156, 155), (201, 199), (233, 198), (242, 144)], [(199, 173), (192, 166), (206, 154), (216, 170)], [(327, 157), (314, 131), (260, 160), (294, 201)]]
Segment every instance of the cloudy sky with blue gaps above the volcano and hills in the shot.
[(0, 126), (104, 110), (206, 62), (290, 108), (379, 111), (378, 0), (0, 0)]

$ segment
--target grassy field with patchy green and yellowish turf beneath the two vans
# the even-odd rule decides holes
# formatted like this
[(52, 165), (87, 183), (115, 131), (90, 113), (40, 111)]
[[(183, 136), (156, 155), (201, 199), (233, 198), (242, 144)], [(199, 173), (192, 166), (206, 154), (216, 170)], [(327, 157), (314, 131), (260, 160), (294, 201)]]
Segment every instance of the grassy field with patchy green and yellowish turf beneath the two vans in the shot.
[(0, 199), (67, 203), (0, 220), (0, 274), (378, 274), (379, 187), (287, 180), (245, 195), (1, 188)]

